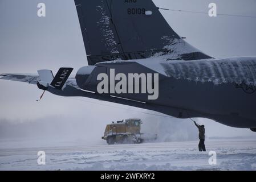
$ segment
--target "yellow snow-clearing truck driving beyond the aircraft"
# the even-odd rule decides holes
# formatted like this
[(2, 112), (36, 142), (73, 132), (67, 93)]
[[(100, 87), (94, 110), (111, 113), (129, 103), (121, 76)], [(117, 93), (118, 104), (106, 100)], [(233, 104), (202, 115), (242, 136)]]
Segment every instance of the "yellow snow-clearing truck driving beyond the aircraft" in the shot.
[(108, 144), (115, 143), (141, 143), (141, 120), (140, 119), (125, 119), (125, 121), (112, 122), (105, 128), (104, 140)]

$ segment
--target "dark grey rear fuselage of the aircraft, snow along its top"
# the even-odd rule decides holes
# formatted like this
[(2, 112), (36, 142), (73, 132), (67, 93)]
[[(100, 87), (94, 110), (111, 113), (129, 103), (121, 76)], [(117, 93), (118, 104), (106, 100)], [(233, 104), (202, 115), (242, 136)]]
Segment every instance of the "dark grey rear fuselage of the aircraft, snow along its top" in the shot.
[(156, 100), (148, 100), (148, 94), (143, 93), (114, 93), (111, 96), (145, 102), (151, 105), (148, 109), (177, 118), (203, 117), (233, 127), (256, 127), (256, 57), (165, 60), (150, 66), (143, 61), (100, 63), (88, 74), (78, 72), (76, 81), (80, 88), (97, 92), (99, 73), (108, 75), (110, 69), (125, 75), (131, 70), (139, 74), (156, 73), (157, 69), (153, 69), (156, 67), (160, 74)]

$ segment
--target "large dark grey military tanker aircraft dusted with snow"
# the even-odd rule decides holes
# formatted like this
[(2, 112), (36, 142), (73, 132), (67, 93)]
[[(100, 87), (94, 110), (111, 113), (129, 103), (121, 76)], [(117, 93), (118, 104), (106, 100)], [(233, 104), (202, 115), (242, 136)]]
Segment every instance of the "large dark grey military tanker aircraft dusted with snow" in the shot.
[[(75, 6), (88, 66), (75, 77), (70, 76), (72, 68), (60, 68), (55, 77), (43, 69), (38, 75), (1, 74), (1, 79), (36, 84), (58, 96), (94, 98), (176, 118), (209, 118), (256, 131), (256, 56), (206, 55), (178, 36), (151, 0), (75, 0)], [(99, 93), (97, 77), (110, 77), (111, 70), (127, 77), (158, 74), (147, 80), (157, 82), (157, 97), (149, 100), (143, 92)], [(108, 84), (110, 89), (113, 85)], [(142, 88), (142, 81), (137, 84)]]

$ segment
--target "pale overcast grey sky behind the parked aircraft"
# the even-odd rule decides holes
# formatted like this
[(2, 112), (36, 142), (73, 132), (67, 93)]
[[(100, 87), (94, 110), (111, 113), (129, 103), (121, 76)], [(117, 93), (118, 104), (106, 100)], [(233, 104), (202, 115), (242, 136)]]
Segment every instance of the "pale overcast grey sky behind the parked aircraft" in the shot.
[[(92, 0), (93, 1), (93, 0)], [(37, 16), (37, 5), (46, 4), (46, 17)], [(208, 12), (210, 2), (217, 3), (217, 13), (256, 16), (256, 0), (155, 0), (157, 6), (189, 11)], [(256, 18), (180, 13), (161, 10), (170, 26), (186, 41), (214, 57), (256, 56)], [(74, 68), (87, 65), (78, 16), (73, 0), (0, 0), (0, 73), (28, 72), (51, 69), (54, 74), (60, 67)], [(88, 98), (64, 98), (42, 94), (35, 85), (0, 80), (0, 119), (30, 121), (59, 117), (97, 123), (100, 133), (104, 125), (122, 118), (137, 117), (148, 121), (168, 120), (155, 117), (142, 109), (127, 107)], [(94, 103), (91, 103), (94, 102)], [(105, 106), (109, 105), (109, 106)], [(128, 110), (127, 110), (128, 109)], [(151, 111), (147, 111), (151, 113)], [(171, 119), (170, 119), (171, 120)], [(177, 122), (190, 122), (180, 121)], [(247, 129), (233, 129), (208, 119), (208, 136), (253, 135)], [(78, 125), (78, 123), (76, 123)], [(193, 127), (193, 125), (191, 125)]]

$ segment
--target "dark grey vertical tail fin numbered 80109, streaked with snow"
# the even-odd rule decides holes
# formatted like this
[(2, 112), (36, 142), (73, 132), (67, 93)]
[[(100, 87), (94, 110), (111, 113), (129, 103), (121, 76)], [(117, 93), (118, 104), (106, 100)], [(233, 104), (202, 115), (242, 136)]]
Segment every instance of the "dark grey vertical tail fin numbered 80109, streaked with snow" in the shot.
[(89, 65), (103, 61), (211, 58), (172, 30), (152, 0), (75, 0)]

